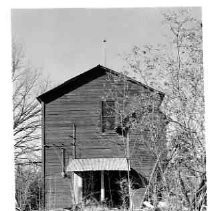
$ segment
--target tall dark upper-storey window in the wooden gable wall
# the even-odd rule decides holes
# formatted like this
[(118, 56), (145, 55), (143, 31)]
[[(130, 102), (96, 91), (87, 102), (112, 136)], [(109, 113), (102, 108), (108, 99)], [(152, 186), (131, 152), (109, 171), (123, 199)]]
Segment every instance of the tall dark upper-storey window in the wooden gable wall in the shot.
[(113, 100), (102, 101), (102, 132), (115, 128), (115, 103)]

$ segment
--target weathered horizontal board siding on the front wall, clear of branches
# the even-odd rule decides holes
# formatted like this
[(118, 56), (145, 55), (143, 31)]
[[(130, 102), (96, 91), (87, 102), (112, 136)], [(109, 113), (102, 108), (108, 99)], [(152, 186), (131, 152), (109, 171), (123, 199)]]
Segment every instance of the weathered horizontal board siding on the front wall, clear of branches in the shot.
[[(66, 149), (66, 164), (73, 157), (73, 124), (76, 125), (76, 158), (125, 157), (122, 137), (114, 131), (102, 133), (101, 130), (101, 102), (110, 88), (109, 83), (107, 75), (102, 75), (45, 104), (44, 177), (47, 209), (69, 207), (74, 200), (72, 175), (68, 178), (61, 176), (61, 147)], [(130, 95), (151, 92), (143, 86), (132, 82), (129, 84)], [(157, 101), (159, 105), (160, 99)], [(154, 158), (141, 142), (144, 138), (138, 131), (131, 135), (131, 167), (148, 177)]]

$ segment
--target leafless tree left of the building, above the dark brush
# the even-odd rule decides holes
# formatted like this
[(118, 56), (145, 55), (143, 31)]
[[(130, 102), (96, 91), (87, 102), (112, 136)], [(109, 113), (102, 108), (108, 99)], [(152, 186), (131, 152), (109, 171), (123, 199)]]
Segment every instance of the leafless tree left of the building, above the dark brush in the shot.
[(34, 162), (41, 149), (41, 107), (36, 96), (46, 90), (49, 82), (29, 65), (22, 45), (17, 43), (12, 45), (12, 81), (15, 162)]

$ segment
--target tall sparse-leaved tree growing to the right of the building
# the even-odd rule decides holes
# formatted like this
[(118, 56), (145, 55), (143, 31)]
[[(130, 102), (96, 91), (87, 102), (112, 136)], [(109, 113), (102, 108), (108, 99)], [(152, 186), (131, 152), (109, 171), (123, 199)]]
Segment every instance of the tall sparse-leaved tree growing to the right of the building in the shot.
[(135, 46), (125, 58), (136, 77), (166, 93), (168, 156), (158, 165), (149, 192), (154, 196), (162, 181), (159, 190), (170, 209), (200, 210), (206, 204), (202, 23), (184, 9), (163, 18), (170, 43)]

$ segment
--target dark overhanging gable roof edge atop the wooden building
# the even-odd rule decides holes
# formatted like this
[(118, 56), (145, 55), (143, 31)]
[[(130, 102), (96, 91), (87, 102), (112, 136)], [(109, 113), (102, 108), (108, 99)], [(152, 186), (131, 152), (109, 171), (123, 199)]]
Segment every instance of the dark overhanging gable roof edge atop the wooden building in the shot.
[[(82, 86), (85, 83), (88, 83), (89, 81), (92, 81), (102, 75), (105, 75), (107, 72), (111, 73), (113, 75), (116, 75), (116, 76), (123, 75), (122, 73), (116, 72), (110, 68), (104, 67), (99, 64), (99, 65), (93, 67), (92, 69), (90, 69), (84, 73), (81, 73), (80, 75), (78, 75), (74, 78), (71, 78), (71, 79), (65, 81), (64, 83), (60, 84), (59, 86), (41, 94), (40, 96), (37, 97), (37, 99), (39, 102), (45, 102), (45, 103), (51, 102), (51, 101), (57, 99), (58, 97), (61, 97), (62, 95), (66, 94), (67, 92), (73, 91), (74, 89)], [(134, 80), (133, 78), (126, 76), (126, 79), (135, 84), (141, 85), (144, 88), (149, 89), (152, 92), (157, 92), (162, 99), (165, 95), (163, 92), (155, 90), (137, 80)], [(67, 87), (68, 87), (68, 89), (67, 89)]]

